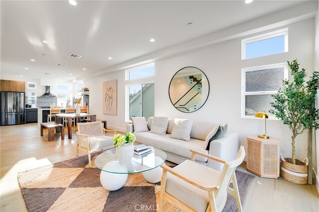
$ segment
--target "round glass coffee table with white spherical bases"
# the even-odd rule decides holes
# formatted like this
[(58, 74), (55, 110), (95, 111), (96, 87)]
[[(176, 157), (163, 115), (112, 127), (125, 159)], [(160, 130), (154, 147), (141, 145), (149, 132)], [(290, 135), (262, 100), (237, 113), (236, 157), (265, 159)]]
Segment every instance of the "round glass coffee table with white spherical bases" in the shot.
[(115, 191), (124, 186), (128, 174), (143, 172), (144, 178), (150, 183), (158, 183), (161, 179), (160, 165), (166, 160), (166, 153), (152, 147), (152, 150), (143, 155), (134, 154), (128, 163), (118, 161), (115, 148), (107, 150), (95, 158), (95, 166), (101, 169), (100, 181), (102, 186)]

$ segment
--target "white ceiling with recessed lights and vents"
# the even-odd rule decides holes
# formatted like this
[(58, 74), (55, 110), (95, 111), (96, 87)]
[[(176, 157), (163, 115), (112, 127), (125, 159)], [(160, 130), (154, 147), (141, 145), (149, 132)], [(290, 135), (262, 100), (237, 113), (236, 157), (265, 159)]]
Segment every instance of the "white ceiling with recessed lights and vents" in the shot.
[(69, 81), (301, 2), (1, 0), (0, 73)]

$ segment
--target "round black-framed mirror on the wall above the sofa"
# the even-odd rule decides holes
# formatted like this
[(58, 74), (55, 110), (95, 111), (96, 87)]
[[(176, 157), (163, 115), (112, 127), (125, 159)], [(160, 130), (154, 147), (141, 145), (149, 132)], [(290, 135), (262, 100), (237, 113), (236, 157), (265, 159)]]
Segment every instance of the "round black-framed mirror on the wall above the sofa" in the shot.
[(171, 104), (182, 112), (194, 112), (205, 104), (209, 82), (198, 68), (185, 67), (176, 72), (168, 89)]

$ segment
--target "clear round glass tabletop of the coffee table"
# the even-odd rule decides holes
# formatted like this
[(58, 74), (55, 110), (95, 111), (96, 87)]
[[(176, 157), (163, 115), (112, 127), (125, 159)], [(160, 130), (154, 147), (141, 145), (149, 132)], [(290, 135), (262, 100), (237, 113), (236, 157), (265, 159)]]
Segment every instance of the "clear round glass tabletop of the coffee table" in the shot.
[[(107, 166), (106, 164), (114, 163), (118, 161), (116, 157), (115, 148), (102, 152), (95, 158), (95, 166), (102, 171), (110, 172), (114, 174), (133, 174), (139, 172), (149, 171), (151, 169), (159, 167), (166, 160), (166, 153), (162, 150), (152, 147), (152, 151), (148, 154), (133, 155), (132, 160), (129, 163), (124, 164), (128, 171), (117, 169), (116, 166)], [(112, 168), (111, 168), (112, 167)]]

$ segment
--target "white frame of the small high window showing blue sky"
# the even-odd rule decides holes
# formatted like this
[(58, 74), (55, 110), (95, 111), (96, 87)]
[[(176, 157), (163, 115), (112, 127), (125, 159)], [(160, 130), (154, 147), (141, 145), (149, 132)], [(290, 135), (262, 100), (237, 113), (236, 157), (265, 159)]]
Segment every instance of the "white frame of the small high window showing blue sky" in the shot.
[[(249, 43), (253, 43), (253, 42), (257, 42), (257, 41), (261, 41), (261, 40), (266, 40), (269, 38), (274, 38), (274, 37), (278, 37), (278, 36), (282, 36), (284, 35), (284, 52), (278, 52), (278, 53), (274, 53), (274, 54), (268, 54), (268, 55), (262, 55), (262, 56), (257, 56), (257, 57), (251, 57), (251, 58), (246, 58), (246, 44)], [(260, 35), (256, 35), (253, 37), (249, 37), (249, 38), (245, 38), (241, 40), (241, 59), (242, 60), (248, 60), (248, 59), (253, 59), (253, 58), (259, 58), (259, 57), (265, 57), (265, 56), (269, 56), (269, 55), (275, 55), (275, 54), (281, 54), (281, 53), (285, 53), (289, 51), (289, 42), (288, 42), (288, 38), (289, 38), (289, 28), (284, 28), (284, 29), (280, 29), (280, 30), (276, 30), (276, 31), (272, 31), (272, 32), (268, 32), (268, 33), (264, 33), (264, 34), (260, 34)]]

